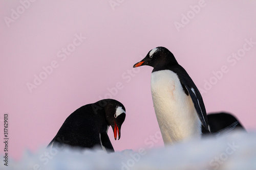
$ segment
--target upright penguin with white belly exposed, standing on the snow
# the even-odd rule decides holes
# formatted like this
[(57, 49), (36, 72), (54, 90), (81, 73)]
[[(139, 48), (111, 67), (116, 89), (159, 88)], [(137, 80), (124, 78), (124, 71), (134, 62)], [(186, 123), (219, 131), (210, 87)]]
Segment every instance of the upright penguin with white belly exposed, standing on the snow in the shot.
[(154, 67), (151, 92), (164, 144), (209, 133), (202, 96), (186, 70), (165, 47), (156, 47), (133, 67)]

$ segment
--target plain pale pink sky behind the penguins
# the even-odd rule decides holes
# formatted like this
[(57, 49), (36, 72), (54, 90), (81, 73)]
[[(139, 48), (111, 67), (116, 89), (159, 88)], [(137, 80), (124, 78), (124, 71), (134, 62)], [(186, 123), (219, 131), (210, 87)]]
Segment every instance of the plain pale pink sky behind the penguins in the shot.
[[(157, 46), (187, 70), (207, 113), (231, 112), (255, 131), (255, 1), (28, 2), (0, 2), (0, 119), (9, 114), (11, 157), (46, 147), (73, 111), (105, 97), (126, 108), (120, 140), (109, 131), (116, 151), (163, 147), (152, 67), (133, 68)], [(45, 79), (30, 91), (34, 75)]]

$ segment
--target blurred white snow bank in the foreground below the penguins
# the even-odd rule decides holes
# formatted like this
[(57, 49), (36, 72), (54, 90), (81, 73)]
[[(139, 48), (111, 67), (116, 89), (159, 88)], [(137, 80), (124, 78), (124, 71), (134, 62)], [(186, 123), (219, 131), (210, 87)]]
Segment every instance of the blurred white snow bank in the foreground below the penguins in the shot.
[[(3, 155), (1, 155), (3, 159)], [(107, 154), (69, 148), (27, 151), (22, 160), (3, 161), (0, 169), (256, 169), (256, 133), (235, 132), (218, 138), (190, 140), (166, 148)]]

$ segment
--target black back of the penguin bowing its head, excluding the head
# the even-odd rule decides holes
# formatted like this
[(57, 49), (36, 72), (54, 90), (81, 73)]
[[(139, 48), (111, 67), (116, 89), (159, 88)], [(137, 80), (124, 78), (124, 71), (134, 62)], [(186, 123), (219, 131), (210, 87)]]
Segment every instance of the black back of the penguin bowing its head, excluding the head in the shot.
[(85, 105), (69, 115), (54, 141), (74, 147), (92, 148), (100, 145), (99, 133), (106, 131), (106, 128), (103, 112), (95, 114), (90, 105)]

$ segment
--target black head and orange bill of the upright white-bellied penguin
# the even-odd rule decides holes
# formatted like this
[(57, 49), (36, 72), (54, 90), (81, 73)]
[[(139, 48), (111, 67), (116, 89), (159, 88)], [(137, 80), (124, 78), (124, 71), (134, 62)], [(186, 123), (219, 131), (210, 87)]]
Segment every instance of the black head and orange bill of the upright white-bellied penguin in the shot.
[(133, 67), (139, 67), (141, 65), (149, 65), (152, 67), (164, 66), (167, 64), (177, 64), (173, 53), (171, 53), (167, 48), (159, 46), (153, 48), (147, 53), (146, 57), (140, 62), (134, 64)]

